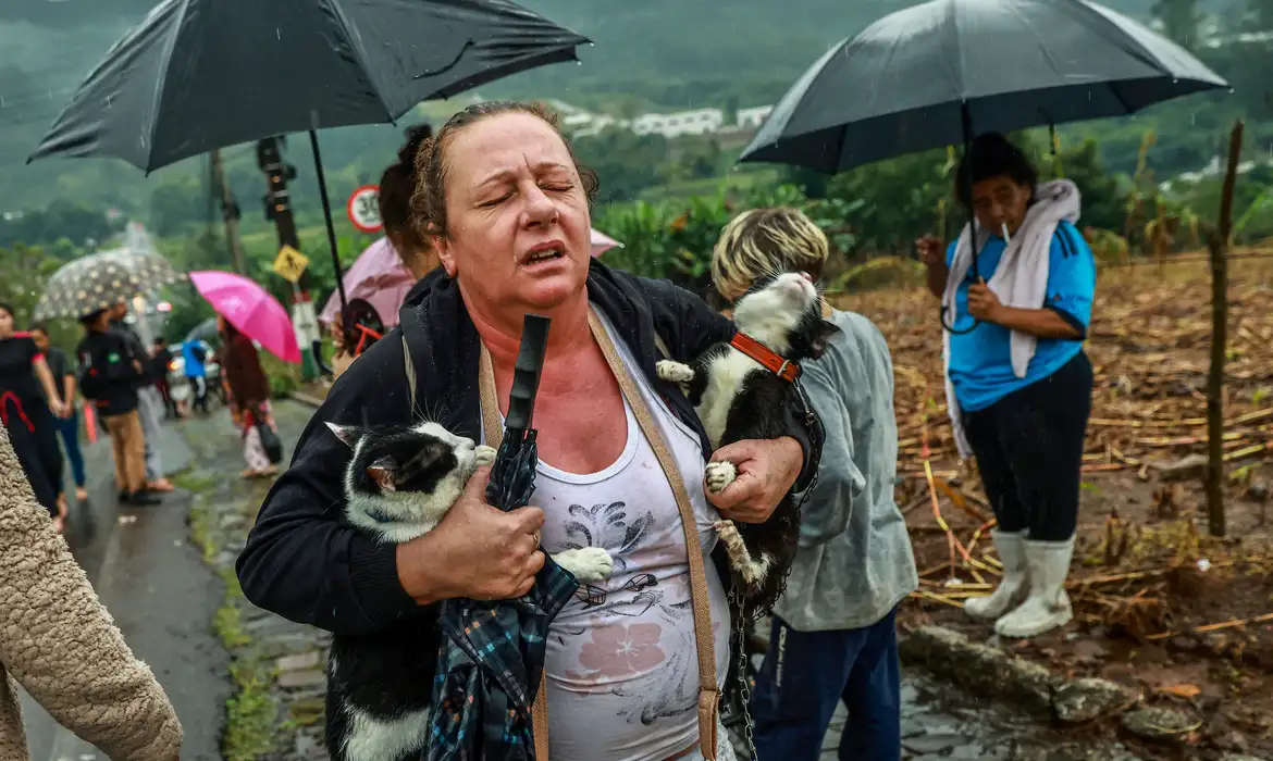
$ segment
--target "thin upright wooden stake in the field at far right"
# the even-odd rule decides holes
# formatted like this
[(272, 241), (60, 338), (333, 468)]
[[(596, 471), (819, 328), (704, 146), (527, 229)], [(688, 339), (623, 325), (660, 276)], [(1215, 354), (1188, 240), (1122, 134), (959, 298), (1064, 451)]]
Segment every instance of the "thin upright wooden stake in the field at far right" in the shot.
[(1220, 196), (1218, 230), (1211, 237), (1211, 372), (1207, 377), (1207, 523), (1225, 536), (1225, 353), (1228, 347), (1228, 241), (1234, 227), (1234, 186), (1242, 153), (1242, 120), (1228, 137), (1228, 167)]

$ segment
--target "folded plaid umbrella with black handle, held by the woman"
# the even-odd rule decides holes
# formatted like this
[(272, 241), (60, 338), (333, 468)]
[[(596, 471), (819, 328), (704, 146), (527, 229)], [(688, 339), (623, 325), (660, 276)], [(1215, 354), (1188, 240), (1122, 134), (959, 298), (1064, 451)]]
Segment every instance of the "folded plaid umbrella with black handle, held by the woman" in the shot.
[[(531, 419), (550, 322), (527, 314), (522, 327), (504, 438), (486, 485), (486, 501), (505, 510), (526, 506), (535, 492), (538, 454)], [(447, 640), (438, 655), (428, 761), (535, 757), (531, 704), (544, 673), (549, 625), (578, 587), (549, 557), (521, 599), (443, 603), (439, 624)]]

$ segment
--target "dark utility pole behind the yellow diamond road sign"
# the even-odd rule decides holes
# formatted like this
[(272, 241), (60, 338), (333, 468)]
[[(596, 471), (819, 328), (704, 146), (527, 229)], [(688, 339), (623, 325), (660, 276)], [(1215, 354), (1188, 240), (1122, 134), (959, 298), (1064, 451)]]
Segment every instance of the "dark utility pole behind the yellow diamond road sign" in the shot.
[[(265, 218), (274, 223), (279, 233), (279, 249), (290, 246), (300, 251), (300, 235), (297, 233), (297, 220), (292, 216), (292, 196), (288, 181), (297, 178), (297, 168), (283, 160), (279, 137), (266, 137), (256, 144), (256, 163), (265, 172), (269, 190), (265, 193)], [(318, 319), (314, 316), (313, 302), (309, 298), (309, 272), (302, 272), (299, 283), (292, 284), (292, 325), (297, 331), (297, 344), (300, 346), (300, 375), (306, 380), (314, 379), (320, 373), (331, 375), (322, 364), (322, 335), (318, 332)], [(302, 285), (304, 284), (304, 285)]]

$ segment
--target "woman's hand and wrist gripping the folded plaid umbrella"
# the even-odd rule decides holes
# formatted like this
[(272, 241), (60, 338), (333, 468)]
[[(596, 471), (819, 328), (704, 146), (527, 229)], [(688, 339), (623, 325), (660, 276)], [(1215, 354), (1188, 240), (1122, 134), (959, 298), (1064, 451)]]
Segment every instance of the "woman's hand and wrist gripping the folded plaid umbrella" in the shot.
[(480, 468), (433, 531), (398, 545), (398, 582), (420, 604), (453, 597), (513, 599), (535, 584), (544, 568), (544, 512), (486, 504), (489, 480), (490, 467)]

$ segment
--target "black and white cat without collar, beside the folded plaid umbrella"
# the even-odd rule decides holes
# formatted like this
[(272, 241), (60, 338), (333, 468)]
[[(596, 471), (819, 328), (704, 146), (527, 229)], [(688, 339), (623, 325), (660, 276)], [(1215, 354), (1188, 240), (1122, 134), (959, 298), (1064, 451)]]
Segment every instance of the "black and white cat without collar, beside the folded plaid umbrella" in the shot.
[[(327, 424), (353, 450), (345, 518), (381, 542), (432, 531), (495, 450), (435, 422), (356, 428)], [(552, 559), (580, 583), (610, 578), (614, 559), (583, 547)], [(327, 660), (327, 752), (334, 761), (407, 761), (428, 744), (442, 636), (430, 616), (368, 636), (334, 636)]]

